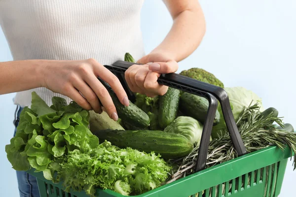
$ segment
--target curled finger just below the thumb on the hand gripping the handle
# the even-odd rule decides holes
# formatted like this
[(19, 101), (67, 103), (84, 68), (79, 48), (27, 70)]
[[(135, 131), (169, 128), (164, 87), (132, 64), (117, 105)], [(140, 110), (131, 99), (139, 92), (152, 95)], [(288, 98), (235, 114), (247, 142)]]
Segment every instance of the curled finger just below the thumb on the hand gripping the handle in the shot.
[(149, 92), (149, 95), (150, 95), (150, 96), (147, 95), (148, 97), (154, 97), (156, 95), (162, 96), (167, 92), (168, 90), (167, 86), (158, 84), (157, 79), (159, 76), (160, 74), (157, 72), (152, 72), (152, 71), (148, 72), (144, 82), (144, 88)]

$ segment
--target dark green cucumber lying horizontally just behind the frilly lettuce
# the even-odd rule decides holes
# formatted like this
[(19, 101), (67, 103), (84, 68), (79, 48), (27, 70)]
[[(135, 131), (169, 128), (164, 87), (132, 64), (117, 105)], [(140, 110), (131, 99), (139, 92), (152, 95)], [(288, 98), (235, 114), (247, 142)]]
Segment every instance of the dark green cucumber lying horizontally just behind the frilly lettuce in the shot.
[(100, 141), (110, 141), (119, 148), (130, 147), (146, 153), (160, 154), (164, 159), (181, 158), (193, 150), (193, 144), (183, 135), (163, 131), (104, 130), (93, 132)]

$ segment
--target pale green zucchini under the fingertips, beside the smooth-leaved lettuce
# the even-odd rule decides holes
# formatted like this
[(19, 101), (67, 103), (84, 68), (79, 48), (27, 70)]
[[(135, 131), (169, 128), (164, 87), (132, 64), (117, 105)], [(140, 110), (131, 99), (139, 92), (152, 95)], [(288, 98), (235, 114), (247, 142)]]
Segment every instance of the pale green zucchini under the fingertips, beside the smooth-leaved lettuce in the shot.
[(124, 130), (124, 128), (118, 122), (111, 119), (105, 111), (101, 114), (97, 114), (93, 110), (89, 111), (89, 127), (90, 131), (106, 129)]

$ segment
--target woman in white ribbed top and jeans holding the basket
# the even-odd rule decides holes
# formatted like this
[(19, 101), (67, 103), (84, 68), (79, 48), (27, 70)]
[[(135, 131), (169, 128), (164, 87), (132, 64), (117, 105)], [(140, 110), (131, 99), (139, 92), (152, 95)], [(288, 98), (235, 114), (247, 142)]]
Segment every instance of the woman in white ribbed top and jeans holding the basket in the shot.
[[(144, 0), (0, 0), (0, 26), (13, 56), (13, 61), (0, 63), (0, 94), (17, 92), (18, 116), (35, 91), (48, 105), (59, 96), (97, 113), (104, 106), (117, 120), (112, 99), (97, 77), (128, 105), (118, 79), (102, 66), (122, 60), (126, 52), (142, 64), (126, 71), (129, 88), (150, 97), (165, 94), (167, 87), (157, 78), (177, 71), (177, 62), (198, 47), (205, 20), (197, 0), (163, 1), (174, 23), (145, 55), (140, 30)], [(17, 171), (17, 178), (21, 197), (39, 196), (34, 177)]]

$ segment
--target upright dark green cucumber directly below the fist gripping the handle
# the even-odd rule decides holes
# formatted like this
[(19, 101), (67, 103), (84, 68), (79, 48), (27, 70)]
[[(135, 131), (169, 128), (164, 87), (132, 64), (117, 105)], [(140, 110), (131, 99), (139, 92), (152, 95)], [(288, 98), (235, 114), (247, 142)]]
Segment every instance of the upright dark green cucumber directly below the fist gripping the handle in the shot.
[(159, 117), (158, 124), (164, 129), (171, 124), (177, 117), (180, 101), (180, 90), (168, 88), (168, 91), (159, 98)]

